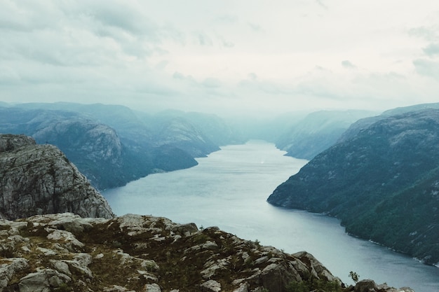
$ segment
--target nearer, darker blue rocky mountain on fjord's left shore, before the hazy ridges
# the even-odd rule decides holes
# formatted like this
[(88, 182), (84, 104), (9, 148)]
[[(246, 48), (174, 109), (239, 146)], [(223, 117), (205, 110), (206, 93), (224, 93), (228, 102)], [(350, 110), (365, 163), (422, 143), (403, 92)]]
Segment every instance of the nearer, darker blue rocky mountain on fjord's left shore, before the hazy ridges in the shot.
[(112, 127), (72, 111), (0, 107), (0, 132), (27, 134), (39, 144), (58, 146), (100, 190), (197, 164), (182, 149), (153, 146), (142, 138), (138, 143), (122, 140)]

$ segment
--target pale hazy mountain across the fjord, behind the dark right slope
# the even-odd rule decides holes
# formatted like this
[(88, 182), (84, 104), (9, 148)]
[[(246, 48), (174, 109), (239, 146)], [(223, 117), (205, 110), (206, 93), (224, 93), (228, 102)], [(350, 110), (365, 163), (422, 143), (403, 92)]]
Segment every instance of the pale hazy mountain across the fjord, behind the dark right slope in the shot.
[(329, 148), (349, 126), (371, 111), (316, 111), (297, 121), (276, 139), (276, 147), (288, 156), (310, 160)]

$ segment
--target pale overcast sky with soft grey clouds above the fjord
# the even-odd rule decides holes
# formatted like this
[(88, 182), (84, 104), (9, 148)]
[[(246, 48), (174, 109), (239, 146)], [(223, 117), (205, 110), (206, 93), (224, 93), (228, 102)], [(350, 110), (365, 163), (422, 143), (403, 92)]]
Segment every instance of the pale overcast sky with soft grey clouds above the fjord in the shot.
[(266, 114), (439, 102), (434, 0), (0, 0), (0, 100)]

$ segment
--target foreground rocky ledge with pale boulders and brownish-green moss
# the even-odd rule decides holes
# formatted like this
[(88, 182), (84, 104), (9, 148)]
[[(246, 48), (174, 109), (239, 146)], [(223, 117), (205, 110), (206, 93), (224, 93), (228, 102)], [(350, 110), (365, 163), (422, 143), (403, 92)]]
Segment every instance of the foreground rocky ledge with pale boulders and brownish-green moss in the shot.
[(0, 220), (0, 255), (0, 291), (283, 292), (309, 279), (340, 284), (309, 253), (132, 214)]

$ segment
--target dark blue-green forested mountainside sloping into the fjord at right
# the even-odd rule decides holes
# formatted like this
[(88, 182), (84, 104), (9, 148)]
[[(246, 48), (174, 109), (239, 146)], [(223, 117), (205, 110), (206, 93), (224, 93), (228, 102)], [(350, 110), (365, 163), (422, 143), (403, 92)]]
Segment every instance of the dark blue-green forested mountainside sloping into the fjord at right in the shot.
[(438, 109), (383, 116), (316, 155), (268, 202), (336, 216), (353, 235), (438, 264), (438, 162)]

